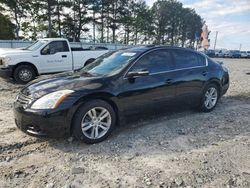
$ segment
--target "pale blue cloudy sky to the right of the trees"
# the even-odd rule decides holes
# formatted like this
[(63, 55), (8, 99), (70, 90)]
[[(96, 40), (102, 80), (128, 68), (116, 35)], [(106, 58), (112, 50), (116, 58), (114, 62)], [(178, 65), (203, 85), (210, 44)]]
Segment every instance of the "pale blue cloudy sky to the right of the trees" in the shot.
[[(146, 0), (152, 6), (156, 0)], [(184, 7), (194, 8), (206, 20), (210, 34), (210, 48), (250, 51), (250, 0), (179, 0)]]

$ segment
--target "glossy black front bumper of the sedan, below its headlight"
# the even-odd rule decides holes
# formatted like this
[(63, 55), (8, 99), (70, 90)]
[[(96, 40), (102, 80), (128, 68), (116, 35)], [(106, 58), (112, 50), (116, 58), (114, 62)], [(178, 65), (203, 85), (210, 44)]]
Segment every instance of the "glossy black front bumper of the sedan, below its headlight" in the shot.
[(70, 135), (71, 117), (69, 110), (49, 111), (24, 109), (14, 103), (17, 127), (33, 136), (64, 137)]

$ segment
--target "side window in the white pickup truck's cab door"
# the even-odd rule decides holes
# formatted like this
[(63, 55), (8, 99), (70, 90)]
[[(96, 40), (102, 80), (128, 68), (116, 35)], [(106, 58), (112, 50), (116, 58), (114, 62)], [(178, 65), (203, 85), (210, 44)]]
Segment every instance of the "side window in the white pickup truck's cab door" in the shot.
[(69, 47), (66, 41), (54, 41), (41, 50), (42, 55), (52, 55), (58, 52), (68, 52)]

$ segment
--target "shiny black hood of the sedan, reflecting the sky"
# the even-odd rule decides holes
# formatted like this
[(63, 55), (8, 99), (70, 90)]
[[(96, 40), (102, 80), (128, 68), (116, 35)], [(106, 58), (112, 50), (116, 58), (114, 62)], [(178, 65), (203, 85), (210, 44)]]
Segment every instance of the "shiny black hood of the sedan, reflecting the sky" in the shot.
[(101, 77), (95, 77), (87, 74), (66, 72), (53, 76), (43, 76), (40, 79), (32, 81), (21, 90), (21, 93), (30, 96), (33, 99), (40, 98), (48, 93), (59, 90), (88, 91), (98, 89)]

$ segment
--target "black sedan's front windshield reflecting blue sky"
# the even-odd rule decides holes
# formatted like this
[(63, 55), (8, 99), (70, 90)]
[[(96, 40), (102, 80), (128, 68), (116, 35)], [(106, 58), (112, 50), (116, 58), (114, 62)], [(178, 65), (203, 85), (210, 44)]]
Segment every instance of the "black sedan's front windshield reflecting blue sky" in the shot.
[(120, 72), (129, 62), (138, 57), (136, 51), (114, 51), (108, 52), (81, 69), (81, 73), (92, 75), (111, 75)]

